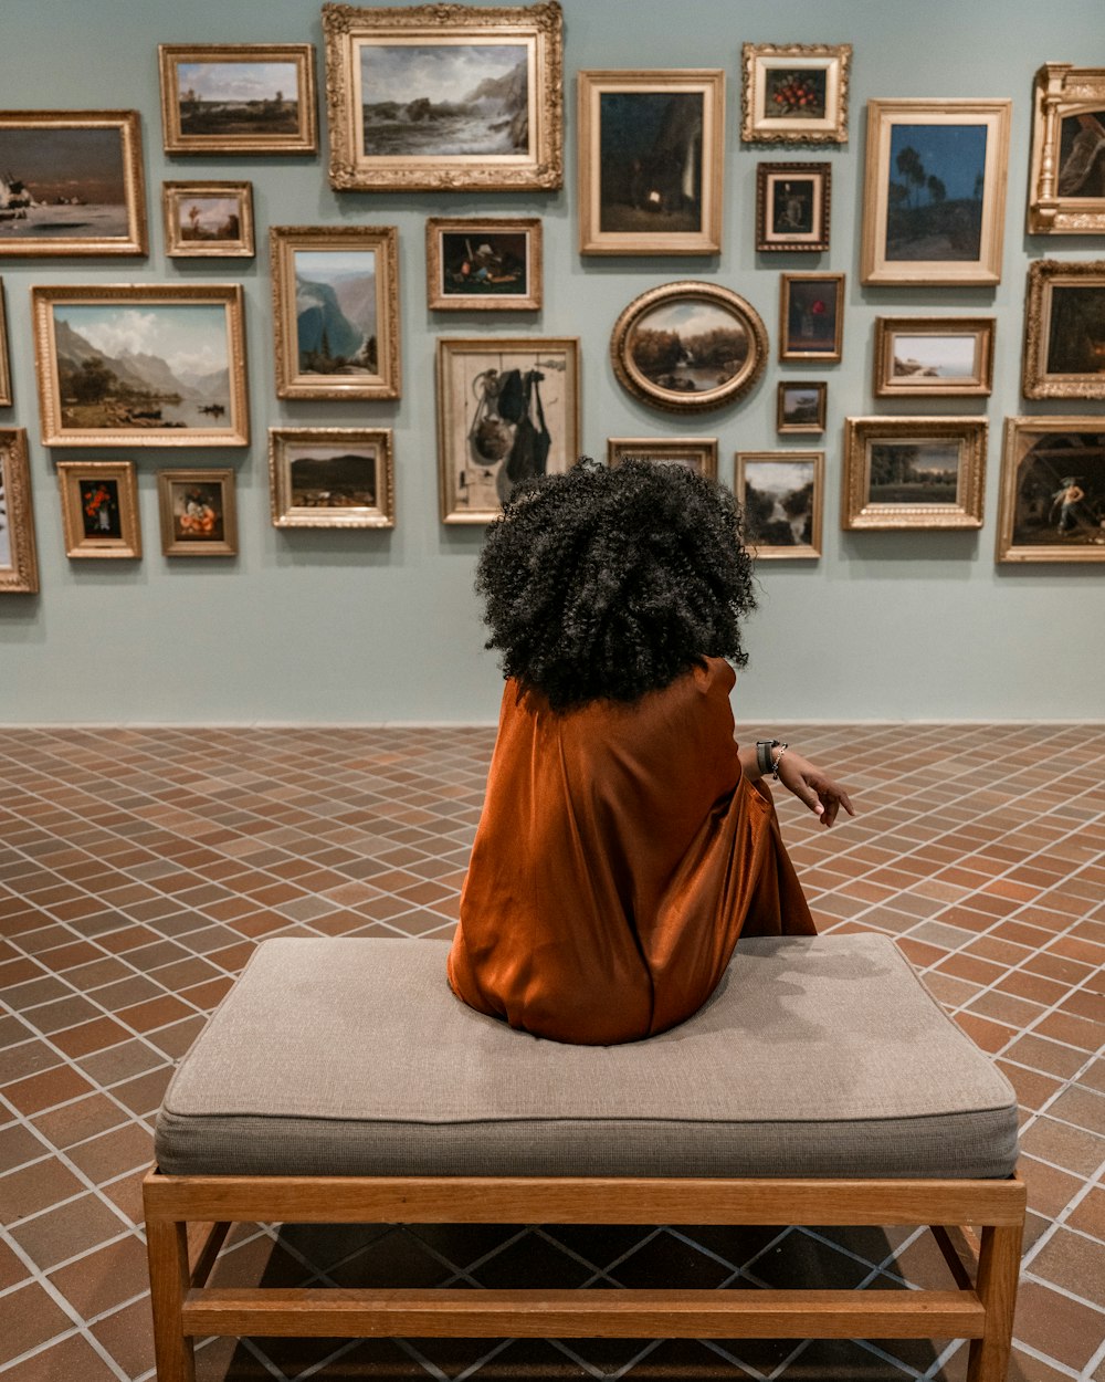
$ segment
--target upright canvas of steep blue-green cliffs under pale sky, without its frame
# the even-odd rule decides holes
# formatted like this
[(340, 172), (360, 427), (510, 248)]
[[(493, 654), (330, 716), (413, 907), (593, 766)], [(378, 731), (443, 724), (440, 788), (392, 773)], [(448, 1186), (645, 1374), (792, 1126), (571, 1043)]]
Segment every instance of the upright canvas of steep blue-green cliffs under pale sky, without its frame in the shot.
[(294, 250), (300, 376), (378, 375), (376, 250)]

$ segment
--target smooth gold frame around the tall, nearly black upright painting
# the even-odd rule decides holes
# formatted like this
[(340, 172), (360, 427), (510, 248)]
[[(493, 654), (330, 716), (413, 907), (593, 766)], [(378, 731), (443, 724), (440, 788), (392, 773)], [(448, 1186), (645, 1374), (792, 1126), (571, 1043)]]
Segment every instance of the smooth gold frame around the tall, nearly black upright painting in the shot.
[[(656, 227), (602, 228), (602, 97), (702, 97), (698, 152), (699, 224), (693, 229)], [(580, 254), (717, 254), (721, 250), (722, 173), (725, 164), (725, 73), (720, 68), (657, 70), (593, 70), (576, 79), (579, 119), (579, 252)], [(688, 153), (693, 142), (688, 141)], [(657, 192), (645, 193), (659, 198)], [(662, 216), (648, 206), (627, 213), (631, 220)]]

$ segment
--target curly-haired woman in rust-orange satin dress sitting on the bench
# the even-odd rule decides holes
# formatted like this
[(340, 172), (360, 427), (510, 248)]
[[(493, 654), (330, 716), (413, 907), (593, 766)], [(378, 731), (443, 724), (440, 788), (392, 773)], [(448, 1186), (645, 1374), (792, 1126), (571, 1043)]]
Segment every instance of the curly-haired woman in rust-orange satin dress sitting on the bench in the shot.
[(754, 607), (733, 496), (584, 460), (515, 491), (477, 590), (508, 680), (457, 996), (555, 1041), (637, 1041), (706, 1002), (739, 936), (814, 934), (762, 779), (826, 826), (855, 813), (787, 745), (733, 741)]

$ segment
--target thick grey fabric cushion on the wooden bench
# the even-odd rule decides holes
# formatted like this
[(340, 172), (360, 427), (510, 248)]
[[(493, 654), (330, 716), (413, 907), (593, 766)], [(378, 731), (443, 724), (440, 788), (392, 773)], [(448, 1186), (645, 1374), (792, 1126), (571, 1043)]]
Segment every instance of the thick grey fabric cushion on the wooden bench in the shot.
[(1006, 1078), (884, 936), (744, 940), (689, 1021), (566, 1046), (465, 1007), (448, 941), (271, 940), (157, 1118), (173, 1175), (1004, 1176)]

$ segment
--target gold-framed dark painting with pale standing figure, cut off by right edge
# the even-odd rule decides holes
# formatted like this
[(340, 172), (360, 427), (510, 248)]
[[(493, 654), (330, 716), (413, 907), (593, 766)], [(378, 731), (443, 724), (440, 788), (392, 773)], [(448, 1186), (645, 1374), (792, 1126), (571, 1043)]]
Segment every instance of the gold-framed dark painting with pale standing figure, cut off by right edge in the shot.
[(999, 561), (1105, 561), (1105, 417), (1007, 417)]

